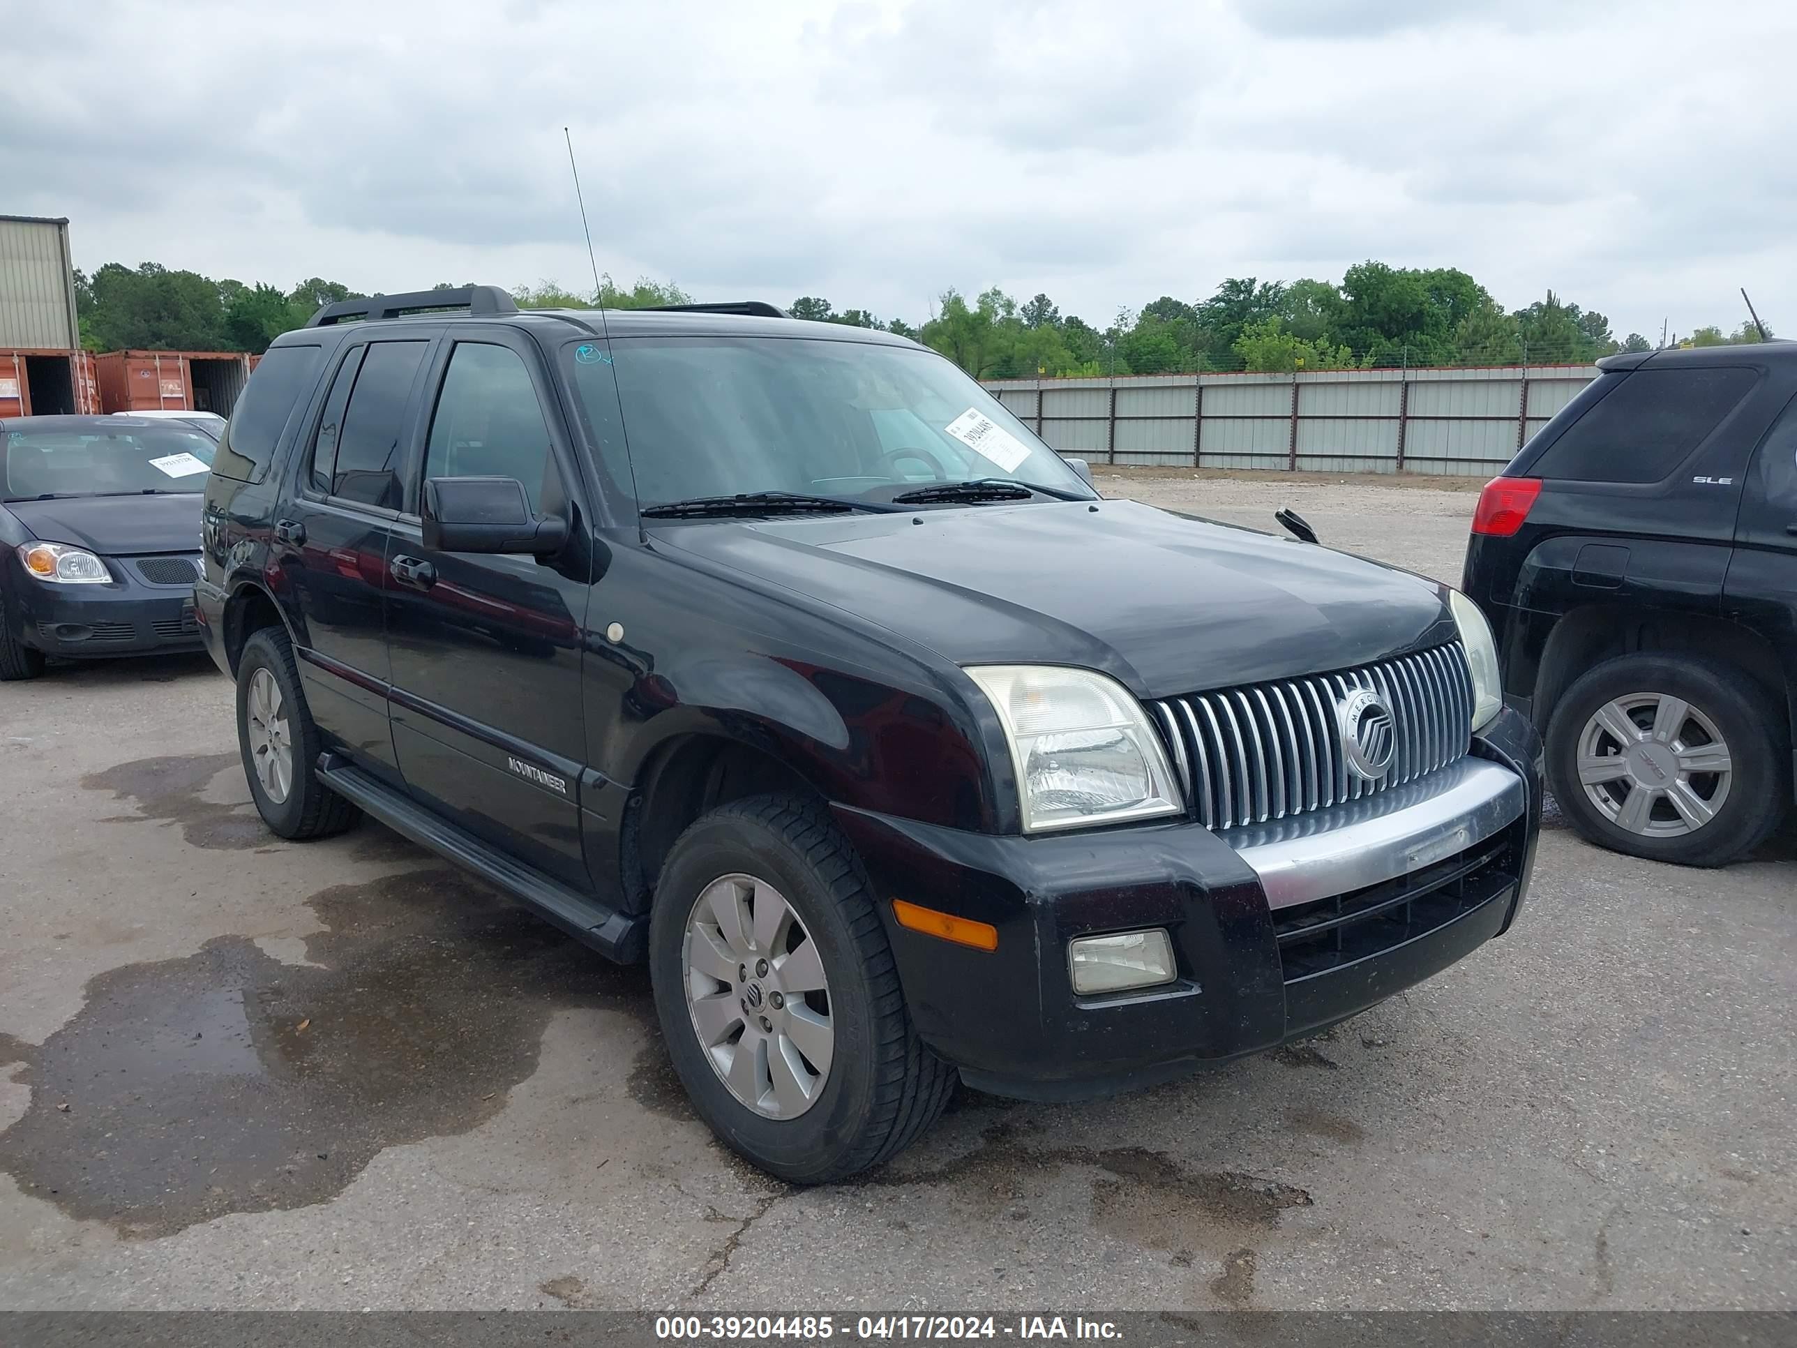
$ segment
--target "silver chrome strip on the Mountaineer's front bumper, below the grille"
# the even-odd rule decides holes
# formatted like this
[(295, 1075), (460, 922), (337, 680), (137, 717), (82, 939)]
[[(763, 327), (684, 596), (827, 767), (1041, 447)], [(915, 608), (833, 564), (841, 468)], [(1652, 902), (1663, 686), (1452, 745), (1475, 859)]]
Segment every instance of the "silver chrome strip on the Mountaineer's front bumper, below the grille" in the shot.
[(1377, 796), (1218, 834), (1260, 875), (1270, 908), (1378, 884), (1483, 843), (1527, 807), (1524, 780), (1465, 757)]

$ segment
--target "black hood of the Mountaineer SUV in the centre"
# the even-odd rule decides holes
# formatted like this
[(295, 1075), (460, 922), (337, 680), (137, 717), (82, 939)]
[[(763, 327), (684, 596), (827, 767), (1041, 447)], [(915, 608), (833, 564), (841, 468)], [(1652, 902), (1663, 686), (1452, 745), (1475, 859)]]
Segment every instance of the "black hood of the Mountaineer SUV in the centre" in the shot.
[(1102, 669), (1143, 697), (1348, 669), (1454, 636), (1432, 581), (1136, 501), (658, 525), (652, 539), (958, 665)]

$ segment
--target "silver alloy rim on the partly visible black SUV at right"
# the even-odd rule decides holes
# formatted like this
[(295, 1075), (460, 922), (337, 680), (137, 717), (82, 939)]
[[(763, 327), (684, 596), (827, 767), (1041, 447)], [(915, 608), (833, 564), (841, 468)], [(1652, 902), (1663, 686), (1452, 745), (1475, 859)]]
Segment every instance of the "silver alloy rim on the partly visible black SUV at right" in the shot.
[(1666, 692), (1614, 697), (1578, 737), (1578, 780), (1590, 803), (1642, 838), (1696, 832), (1716, 818), (1732, 778), (1716, 723)]

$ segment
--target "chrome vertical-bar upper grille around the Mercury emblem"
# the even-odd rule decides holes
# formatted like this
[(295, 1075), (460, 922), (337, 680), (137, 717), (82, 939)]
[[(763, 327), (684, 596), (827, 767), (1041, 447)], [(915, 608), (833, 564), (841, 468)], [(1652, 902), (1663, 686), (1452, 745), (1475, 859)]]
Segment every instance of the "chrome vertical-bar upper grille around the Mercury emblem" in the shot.
[[(1369, 688), (1391, 708), (1391, 767), (1348, 767), (1339, 701)], [(1378, 665), (1155, 703), (1186, 800), (1211, 829), (1265, 823), (1402, 785), (1466, 755), (1472, 670), (1459, 642)]]

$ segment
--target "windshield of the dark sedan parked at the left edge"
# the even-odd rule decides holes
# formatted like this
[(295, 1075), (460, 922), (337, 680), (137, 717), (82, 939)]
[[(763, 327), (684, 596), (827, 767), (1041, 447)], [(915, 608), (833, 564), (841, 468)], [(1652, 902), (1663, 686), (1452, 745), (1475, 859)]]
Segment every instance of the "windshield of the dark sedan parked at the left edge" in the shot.
[(0, 449), (0, 496), (102, 496), (106, 492), (203, 491), (217, 442), (203, 431), (169, 426), (11, 426)]

